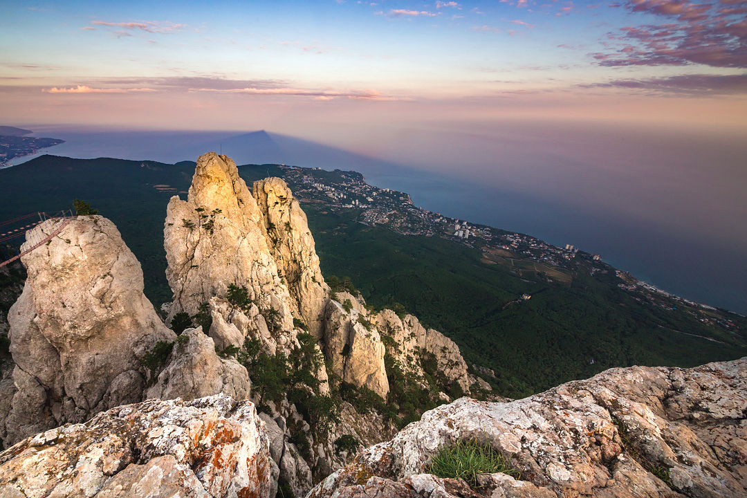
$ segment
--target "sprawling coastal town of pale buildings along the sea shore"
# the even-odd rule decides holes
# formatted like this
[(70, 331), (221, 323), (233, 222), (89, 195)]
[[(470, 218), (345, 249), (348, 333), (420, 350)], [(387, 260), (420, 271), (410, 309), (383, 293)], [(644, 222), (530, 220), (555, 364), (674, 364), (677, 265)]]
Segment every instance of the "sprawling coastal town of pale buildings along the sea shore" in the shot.
[[(347, 211), (363, 225), (378, 225), (403, 235), (453, 240), (480, 250), (481, 261), (506, 267), (518, 278), (566, 285), (570, 285), (579, 272), (616, 278), (617, 287), (633, 293), (639, 301), (670, 310), (678, 306), (693, 308), (703, 323), (736, 328), (731, 320), (716, 313), (716, 308), (660, 290), (630, 273), (616, 270), (605, 263), (601, 255), (585, 252), (572, 244), (558, 247), (527, 234), (457, 220), (419, 208), (409, 194), (368, 184), (359, 172), (340, 169), (330, 172), (285, 164), (281, 165), (281, 170), (300, 202), (325, 205), (333, 212)], [(518, 296), (516, 302), (530, 298), (530, 295)]]

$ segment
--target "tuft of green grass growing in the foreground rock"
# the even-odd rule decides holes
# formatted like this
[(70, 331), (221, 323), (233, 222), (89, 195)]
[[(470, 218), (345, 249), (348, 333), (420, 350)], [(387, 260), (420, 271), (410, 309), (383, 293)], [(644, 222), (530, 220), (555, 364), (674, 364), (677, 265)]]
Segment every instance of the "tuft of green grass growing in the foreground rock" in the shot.
[(510, 467), (503, 455), (474, 439), (441, 446), (431, 459), (428, 471), (444, 479), (464, 479), (471, 488), (477, 488), (477, 474), (500, 472), (517, 479), (519, 476), (518, 470)]

